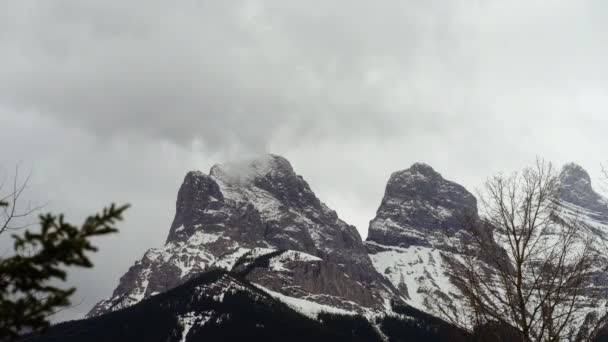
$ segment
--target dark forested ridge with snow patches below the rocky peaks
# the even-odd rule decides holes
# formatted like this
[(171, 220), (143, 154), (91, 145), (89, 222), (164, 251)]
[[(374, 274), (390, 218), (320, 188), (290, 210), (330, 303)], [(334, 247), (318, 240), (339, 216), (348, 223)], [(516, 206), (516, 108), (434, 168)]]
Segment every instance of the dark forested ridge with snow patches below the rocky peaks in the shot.
[[(266, 260), (268, 261), (268, 259)], [(258, 263), (261, 263), (258, 261)], [(295, 309), (294, 309), (295, 308)], [(306, 308), (306, 314), (301, 309)], [(27, 341), (467, 341), (441, 320), (409, 307), (370, 321), (303, 299), (286, 299), (242, 274), (215, 269), (165, 293), (86, 320), (52, 327)]]

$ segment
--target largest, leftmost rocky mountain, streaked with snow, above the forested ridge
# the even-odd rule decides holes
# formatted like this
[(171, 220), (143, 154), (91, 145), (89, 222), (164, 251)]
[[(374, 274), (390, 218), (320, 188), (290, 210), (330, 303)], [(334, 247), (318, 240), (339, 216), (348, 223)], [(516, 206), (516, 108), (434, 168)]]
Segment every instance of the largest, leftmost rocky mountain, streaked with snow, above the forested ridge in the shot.
[[(277, 261), (283, 251), (292, 252)], [(89, 316), (133, 305), (210, 267), (239, 271), (244, 260), (256, 284), (347, 310), (381, 310), (396, 292), (375, 271), (355, 227), (286, 159), (268, 155), (215, 165), (209, 175), (188, 173), (165, 246), (149, 250)]]

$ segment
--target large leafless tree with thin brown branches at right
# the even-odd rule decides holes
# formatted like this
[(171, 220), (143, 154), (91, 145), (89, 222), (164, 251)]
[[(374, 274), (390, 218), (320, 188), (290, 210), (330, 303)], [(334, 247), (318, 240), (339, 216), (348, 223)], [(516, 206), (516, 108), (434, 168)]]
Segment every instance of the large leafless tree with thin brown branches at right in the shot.
[(606, 321), (590, 309), (600, 254), (563, 209), (551, 164), (489, 179), (480, 204), (483, 218), (465, 220), (460, 253), (444, 255), (459, 300), (434, 298), (435, 311), (494, 340), (593, 339)]

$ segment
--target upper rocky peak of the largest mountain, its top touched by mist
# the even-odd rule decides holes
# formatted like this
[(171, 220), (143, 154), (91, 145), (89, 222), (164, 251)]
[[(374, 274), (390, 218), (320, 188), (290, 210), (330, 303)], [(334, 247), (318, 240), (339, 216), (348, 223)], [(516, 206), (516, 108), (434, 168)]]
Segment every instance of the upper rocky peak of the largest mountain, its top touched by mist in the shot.
[[(356, 229), (340, 220), (289, 161), (277, 155), (218, 164), (209, 175), (189, 172), (178, 193), (168, 241), (182, 241), (202, 230), (231, 232), (231, 239), (250, 247), (263, 246), (264, 240), (315, 255), (360, 241)], [(361, 242), (358, 248), (364, 250)]]

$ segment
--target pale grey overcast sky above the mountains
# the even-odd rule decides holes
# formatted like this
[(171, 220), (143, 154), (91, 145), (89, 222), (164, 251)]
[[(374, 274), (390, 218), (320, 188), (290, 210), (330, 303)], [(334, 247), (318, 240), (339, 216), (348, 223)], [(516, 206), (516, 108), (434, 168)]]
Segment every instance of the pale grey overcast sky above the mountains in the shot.
[(3, 0), (0, 162), (73, 220), (133, 205), (70, 277), (77, 318), (216, 162), (285, 156), (363, 237), (416, 161), (471, 190), (537, 155), (599, 177), (606, 32), (600, 0)]

